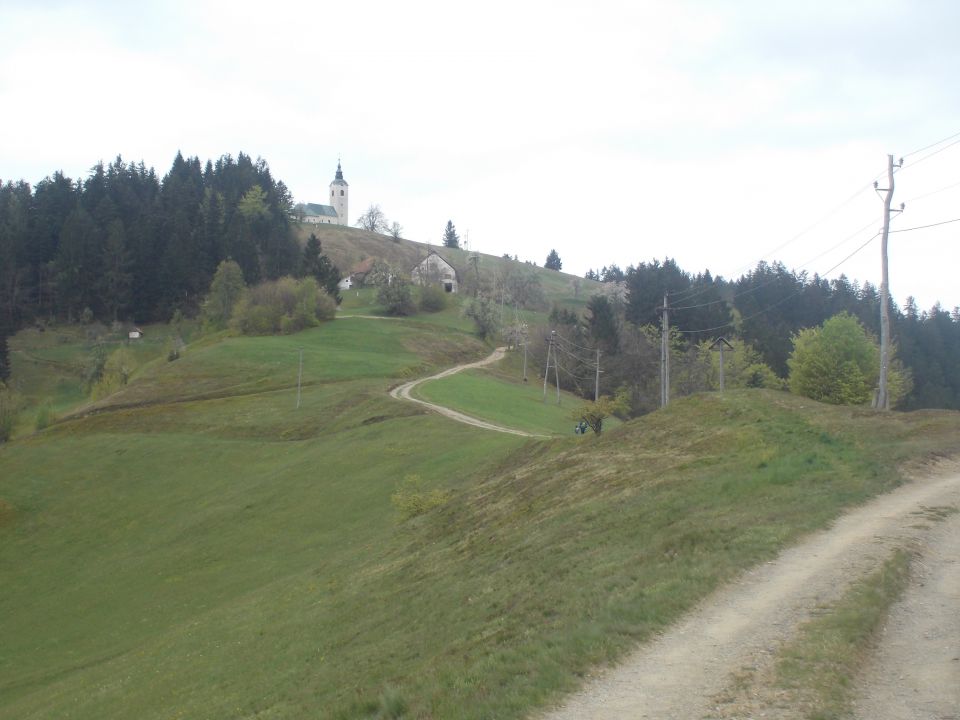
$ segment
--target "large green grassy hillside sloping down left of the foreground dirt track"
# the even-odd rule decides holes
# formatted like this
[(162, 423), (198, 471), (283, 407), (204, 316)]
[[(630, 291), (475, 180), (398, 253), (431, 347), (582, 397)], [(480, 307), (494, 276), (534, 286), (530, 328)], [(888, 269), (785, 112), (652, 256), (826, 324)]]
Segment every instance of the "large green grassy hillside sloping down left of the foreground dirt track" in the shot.
[(201, 340), (0, 446), (0, 718), (525, 717), (960, 444), (765, 391), (525, 441), (387, 396), (489, 350), (438, 327)]

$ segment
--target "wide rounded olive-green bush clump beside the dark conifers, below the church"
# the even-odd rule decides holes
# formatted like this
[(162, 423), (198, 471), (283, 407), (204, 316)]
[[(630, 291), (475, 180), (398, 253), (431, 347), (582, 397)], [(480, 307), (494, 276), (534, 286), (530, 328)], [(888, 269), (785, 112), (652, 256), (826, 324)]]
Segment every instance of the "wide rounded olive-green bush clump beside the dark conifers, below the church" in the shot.
[(285, 335), (332, 320), (336, 302), (312, 277), (285, 277), (249, 288), (236, 304), (231, 324), (244, 335)]

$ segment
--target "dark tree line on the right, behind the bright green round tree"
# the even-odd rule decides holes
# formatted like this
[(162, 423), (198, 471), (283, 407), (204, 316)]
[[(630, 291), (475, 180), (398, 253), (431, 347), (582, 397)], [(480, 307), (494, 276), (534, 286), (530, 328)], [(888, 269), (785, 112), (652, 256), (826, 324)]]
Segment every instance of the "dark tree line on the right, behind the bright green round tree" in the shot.
[[(629, 388), (634, 412), (654, 409), (659, 401), (659, 327), (664, 300), (670, 307), (674, 382), (680, 392), (707, 389), (716, 359), (705, 351), (719, 337), (734, 340), (745, 384), (783, 385), (795, 340), (838, 315), (856, 320), (874, 337), (880, 332), (880, 294), (870, 283), (833, 280), (759, 263), (736, 280), (709, 271), (690, 273), (675, 261), (654, 260), (621, 270), (616, 265), (587, 272), (604, 282), (584, 317), (562, 308), (551, 316), (554, 328), (573, 345), (599, 348), (605, 357), (601, 389), (613, 394)], [(912, 386), (899, 407), (960, 409), (960, 310), (939, 304), (927, 311), (908, 298), (892, 303), (893, 342), (899, 364)], [(716, 353), (714, 353), (715, 355)], [(566, 384), (593, 394), (585, 352), (571, 353)], [(715, 377), (714, 377), (715, 381)], [(564, 382), (561, 377), (561, 382)]]

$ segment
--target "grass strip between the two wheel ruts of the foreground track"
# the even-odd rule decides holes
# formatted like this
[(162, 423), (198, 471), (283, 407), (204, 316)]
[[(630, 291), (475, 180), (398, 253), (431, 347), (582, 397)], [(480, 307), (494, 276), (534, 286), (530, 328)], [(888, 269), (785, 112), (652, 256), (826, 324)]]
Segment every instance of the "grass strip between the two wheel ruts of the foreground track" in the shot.
[(800, 628), (780, 652), (777, 684), (810, 720), (840, 720), (852, 711), (853, 681), (890, 607), (906, 589), (910, 555), (898, 550), (824, 614)]

